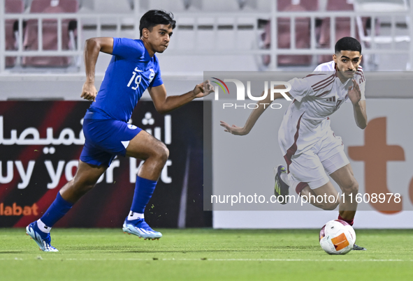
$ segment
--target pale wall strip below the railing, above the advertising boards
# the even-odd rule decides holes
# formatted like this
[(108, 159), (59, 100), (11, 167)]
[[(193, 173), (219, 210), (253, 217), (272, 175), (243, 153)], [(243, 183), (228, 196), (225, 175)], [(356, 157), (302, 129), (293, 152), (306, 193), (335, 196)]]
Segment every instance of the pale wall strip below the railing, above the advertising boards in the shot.
[[(219, 69), (219, 68), (217, 68)], [(279, 81), (293, 77), (305, 77), (309, 72), (273, 72)], [(411, 72), (366, 72), (367, 98), (413, 98), (413, 73)], [(96, 75), (99, 89), (103, 73)], [(162, 73), (168, 95), (179, 95), (194, 89), (202, 82), (202, 72)], [(85, 82), (84, 74), (35, 74), (20, 73), (0, 75), (0, 100), (82, 100), (80, 91)], [(143, 99), (150, 98), (147, 91)]]

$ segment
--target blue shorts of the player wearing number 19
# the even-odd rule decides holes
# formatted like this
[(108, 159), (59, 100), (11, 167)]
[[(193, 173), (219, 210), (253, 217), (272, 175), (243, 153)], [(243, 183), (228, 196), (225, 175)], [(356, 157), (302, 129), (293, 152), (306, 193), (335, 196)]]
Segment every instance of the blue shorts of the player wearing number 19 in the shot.
[(141, 128), (114, 119), (83, 119), (83, 146), (80, 160), (91, 165), (110, 166), (116, 155), (126, 155), (129, 141)]

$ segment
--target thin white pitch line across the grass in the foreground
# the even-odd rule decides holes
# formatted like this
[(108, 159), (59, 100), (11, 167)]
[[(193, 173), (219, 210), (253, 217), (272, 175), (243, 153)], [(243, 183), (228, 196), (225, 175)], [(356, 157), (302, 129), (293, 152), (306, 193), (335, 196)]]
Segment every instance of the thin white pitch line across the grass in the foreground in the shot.
[[(38, 259), (36, 257), (32, 259)], [(412, 262), (413, 259), (135, 259), (135, 258), (125, 258), (125, 259), (65, 259), (65, 258), (57, 258), (57, 259), (49, 259), (49, 258), (44, 258), (44, 255), (42, 257), (43, 260), (47, 261), (153, 261), (153, 260), (159, 260), (159, 261), (354, 261), (354, 262), (359, 262), (359, 261), (367, 261), (367, 262), (387, 262), (387, 261), (407, 261), (407, 262)], [(1, 261), (11, 261), (11, 260), (18, 260), (18, 261), (24, 261), (24, 260), (31, 260), (31, 259), (22, 259), (22, 258), (0, 258)]]

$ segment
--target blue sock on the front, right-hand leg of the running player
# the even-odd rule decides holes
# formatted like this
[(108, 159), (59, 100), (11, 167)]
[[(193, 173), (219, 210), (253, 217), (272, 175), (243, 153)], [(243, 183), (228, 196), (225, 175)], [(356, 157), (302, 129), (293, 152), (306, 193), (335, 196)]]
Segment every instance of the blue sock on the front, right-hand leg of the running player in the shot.
[(156, 185), (156, 181), (151, 181), (150, 179), (143, 179), (140, 176), (136, 176), (135, 193), (133, 194), (131, 206), (132, 212), (143, 213), (145, 211), (145, 207), (149, 203)]

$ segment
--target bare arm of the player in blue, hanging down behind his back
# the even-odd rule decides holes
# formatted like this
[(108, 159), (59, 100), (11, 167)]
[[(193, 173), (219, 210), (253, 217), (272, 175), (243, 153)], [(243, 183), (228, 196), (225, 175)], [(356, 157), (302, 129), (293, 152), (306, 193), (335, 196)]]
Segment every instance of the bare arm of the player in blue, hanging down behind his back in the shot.
[(80, 98), (84, 98), (85, 100), (95, 101), (98, 93), (96, 91), (96, 87), (94, 86), (94, 73), (99, 52), (112, 54), (112, 37), (90, 38), (85, 42), (85, 51), (83, 54), (85, 59), (86, 82), (83, 84), (82, 94), (80, 95)]

